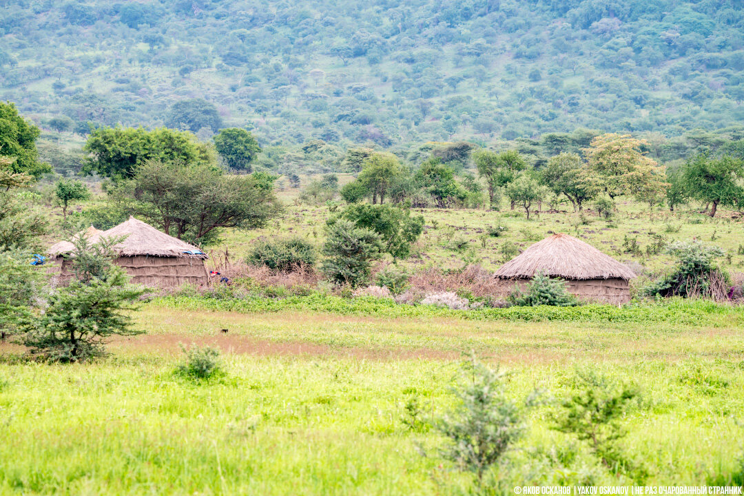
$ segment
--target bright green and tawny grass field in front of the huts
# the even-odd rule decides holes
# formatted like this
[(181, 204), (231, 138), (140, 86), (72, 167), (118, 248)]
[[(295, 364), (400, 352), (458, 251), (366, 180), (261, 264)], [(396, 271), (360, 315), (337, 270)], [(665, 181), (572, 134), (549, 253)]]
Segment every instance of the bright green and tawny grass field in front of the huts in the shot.
[[(443, 439), (403, 419), (412, 399), (423, 419), (452, 406), (470, 350), (510, 371), (516, 399), (535, 389), (561, 399), (577, 370), (635, 383), (622, 448), (645, 485), (736, 482), (740, 311), (677, 303), (649, 312), (530, 322), (155, 300), (135, 317), (146, 334), (116, 339), (91, 364), (32, 363), (0, 345), (0, 494), (467, 494), (472, 478), (439, 456)], [(657, 314), (667, 316), (648, 317)], [(179, 344), (219, 348), (224, 373), (175, 373)], [(525, 437), (493, 471), (499, 487), (638, 482), (551, 430), (554, 408), (531, 410)]]

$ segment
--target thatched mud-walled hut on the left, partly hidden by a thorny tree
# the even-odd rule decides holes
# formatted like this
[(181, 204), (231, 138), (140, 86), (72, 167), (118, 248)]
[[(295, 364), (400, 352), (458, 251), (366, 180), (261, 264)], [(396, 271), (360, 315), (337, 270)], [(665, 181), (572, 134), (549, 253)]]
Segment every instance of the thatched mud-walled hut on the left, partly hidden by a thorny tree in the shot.
[[(92, 232), (89, 229), (80, 235), (86, 236), (92, 244), (101, 237), (126, 236), (114, 246), (119, 255), (114, 263), (121, 265), (132, 276), (132, 283), (151, 288), (176, 288), (183, 283), (202, 286), (208, 282), (204, 266), (207, 255), (203, 251), (134, 217), (129, 217), (129, 220), (108, 231)], [(73, 249), (71, 242), (63, 241), (49, 250), (49, 255), (61, 262), (60, 283), (65, 283), (71, 277), (70, 261), (65, 255)]]

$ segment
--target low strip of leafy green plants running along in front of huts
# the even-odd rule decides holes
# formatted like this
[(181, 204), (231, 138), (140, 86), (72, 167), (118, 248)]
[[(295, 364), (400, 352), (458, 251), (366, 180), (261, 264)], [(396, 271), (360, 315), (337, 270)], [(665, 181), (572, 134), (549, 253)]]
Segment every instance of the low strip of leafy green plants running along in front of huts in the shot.
[(617, 307), (585, 305), (573, 307), (511, 306), (475, 310), (452, 310), (433, 305), (401, 305), (388, 298), (344, 298), (328, 294), (290, 296), (285, 298), (246, 297), (219, 299), (202, 297), (164, 296), (150, 305), (186, 310), (214, 310), (222, 312), (260, 313), (299, 310), (327, 312), (339, 315), (374, 315), (379, 317), (460, 318), (468, 321), (580, 321), (628, 323), (679, 323), (713, 327), (739, 326), (744, 310), (703, 300), (671, 300), (664, 303)]

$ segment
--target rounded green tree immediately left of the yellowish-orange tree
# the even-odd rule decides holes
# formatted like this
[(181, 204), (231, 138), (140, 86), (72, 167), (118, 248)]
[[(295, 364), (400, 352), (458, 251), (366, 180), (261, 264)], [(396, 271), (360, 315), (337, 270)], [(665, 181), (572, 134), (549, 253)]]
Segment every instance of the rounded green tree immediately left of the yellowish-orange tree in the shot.
[(575, 153), (559, 153), (548, 160), (548, 165), (540, 171), (542, 184), (557, 195), (565, 195), (574, 205), (574, 212), (582, 210), (583, 202), (591, 200), (600, 191), (599, 181)]

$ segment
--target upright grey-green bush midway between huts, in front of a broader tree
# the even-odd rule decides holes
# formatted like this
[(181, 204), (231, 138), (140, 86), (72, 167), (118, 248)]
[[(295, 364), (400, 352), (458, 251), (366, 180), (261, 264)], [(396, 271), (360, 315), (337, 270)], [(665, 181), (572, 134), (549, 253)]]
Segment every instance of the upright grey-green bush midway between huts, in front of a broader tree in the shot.
[(326, 228), (323, 273), (333, 283), (359, 286), (370, 278), (371, 263), (380, 256), (379, 236), (353, 222), (339, 220)]

